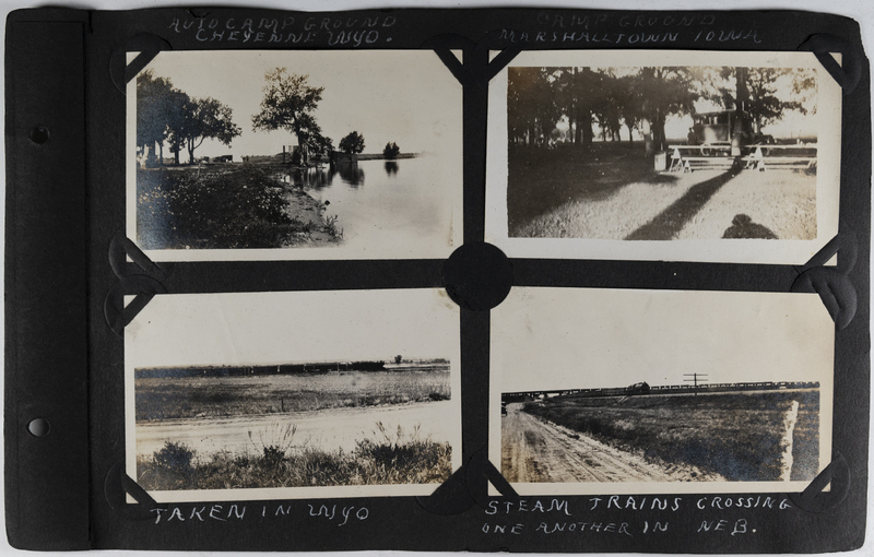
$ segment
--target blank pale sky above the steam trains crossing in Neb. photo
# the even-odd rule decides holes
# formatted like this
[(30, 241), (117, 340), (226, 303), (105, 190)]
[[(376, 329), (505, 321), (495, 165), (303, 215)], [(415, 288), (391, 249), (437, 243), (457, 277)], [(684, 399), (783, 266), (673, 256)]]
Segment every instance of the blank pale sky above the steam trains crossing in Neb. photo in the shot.
[(513, 288), (492, 311), (492, 367), (501, 392), (825, 381), (834, 328), (815, 294)]

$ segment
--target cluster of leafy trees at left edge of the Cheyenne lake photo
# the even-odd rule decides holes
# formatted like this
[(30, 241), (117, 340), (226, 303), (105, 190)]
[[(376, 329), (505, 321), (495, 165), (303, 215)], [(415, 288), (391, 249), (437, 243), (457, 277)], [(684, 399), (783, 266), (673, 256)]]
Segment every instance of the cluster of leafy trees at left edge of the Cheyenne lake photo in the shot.
[(229, 145), (240, 133), (231, 108), (218, 100), (189, 97), (151, 70), (137, 79), (137, 146), (147, 156), (154, 156), (157, 145), (157, 156), (163, 162), (166, 142), (176, 164), (182, 150), (188, 151), (189, 162), (193, 163), (194, 150), (203, 140), (211, 138)]

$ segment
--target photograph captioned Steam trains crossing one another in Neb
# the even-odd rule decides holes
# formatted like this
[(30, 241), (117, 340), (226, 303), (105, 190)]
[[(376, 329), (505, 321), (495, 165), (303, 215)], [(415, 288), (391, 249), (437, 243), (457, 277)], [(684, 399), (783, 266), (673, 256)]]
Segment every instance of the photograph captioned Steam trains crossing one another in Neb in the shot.
[(489, 454), (525, 495), (801, 490), (830, 462), (816, 295), (513, 288)]

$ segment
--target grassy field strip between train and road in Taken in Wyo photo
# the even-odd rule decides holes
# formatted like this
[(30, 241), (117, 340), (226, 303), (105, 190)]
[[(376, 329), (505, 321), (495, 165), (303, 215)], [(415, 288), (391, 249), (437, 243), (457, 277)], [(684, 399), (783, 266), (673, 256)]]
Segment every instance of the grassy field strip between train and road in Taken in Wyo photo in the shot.
[(137, 420), (379, 406), (450, 398), (449, 370), (138, 378)]

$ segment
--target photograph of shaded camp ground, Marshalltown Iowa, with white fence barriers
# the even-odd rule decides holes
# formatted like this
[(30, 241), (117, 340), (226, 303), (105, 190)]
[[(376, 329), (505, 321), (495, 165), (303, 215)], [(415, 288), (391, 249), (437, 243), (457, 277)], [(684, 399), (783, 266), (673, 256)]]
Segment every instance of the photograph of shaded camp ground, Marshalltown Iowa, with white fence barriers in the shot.
[(706, 244), (710, 260), (761, 262), (834, 237), (840, 88), (812, 54), (637, 55), (525, 54), (507, 68), (489, 121), (506, 133), (489, 153), (506, 141), (493, 234), (568, 257), (695, 260)]

